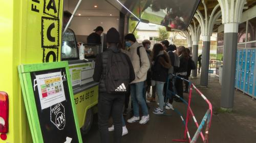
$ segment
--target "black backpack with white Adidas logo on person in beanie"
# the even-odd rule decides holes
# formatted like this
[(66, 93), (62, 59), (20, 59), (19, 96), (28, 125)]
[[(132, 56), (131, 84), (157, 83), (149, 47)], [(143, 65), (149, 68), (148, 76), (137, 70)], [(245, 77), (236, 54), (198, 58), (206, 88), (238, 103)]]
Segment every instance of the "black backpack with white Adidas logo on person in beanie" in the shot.
[(129, 64), (122, 52), (110, 51), (106, 65), (105, 87), (110, 94), (126, 93), (130, 83)]

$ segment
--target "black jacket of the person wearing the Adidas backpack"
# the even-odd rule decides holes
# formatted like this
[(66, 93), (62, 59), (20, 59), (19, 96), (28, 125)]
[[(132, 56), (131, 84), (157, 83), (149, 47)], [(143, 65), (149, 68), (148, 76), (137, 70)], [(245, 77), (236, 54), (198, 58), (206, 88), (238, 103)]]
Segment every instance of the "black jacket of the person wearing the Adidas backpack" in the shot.
[(129, 64), (130, 69), (130, 82), (132, 82), (135, 79), (135, 73), (133, 69), (132, 62), (128, 55), (121, 52), (120, 49), (117, 47), (110, 47), (103, 53), (100, 53), (97, 56), (95, 68), (94, 68), (94, 74), (93, 74), (93, 80), (95, 82), (99, 82), (99, 92), (106, 92), (105, 88), (105, 74), (106, 74), (106, 64), (108, 63), (109, 55), (111, 52), (120, 52), (120, 54), (123, 54)]

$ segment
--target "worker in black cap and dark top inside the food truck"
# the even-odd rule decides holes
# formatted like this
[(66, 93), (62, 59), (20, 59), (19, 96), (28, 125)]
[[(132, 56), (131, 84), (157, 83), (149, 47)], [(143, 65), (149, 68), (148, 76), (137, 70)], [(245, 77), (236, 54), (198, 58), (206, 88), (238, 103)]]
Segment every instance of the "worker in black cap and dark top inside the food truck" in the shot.
[(101, 44), (101, 34), (103, 33), (103, 27), (98, 26), (95, 30), (94, 33), (91, 33), (88, 37), (87, 37), (87, 43), (88, 44)]

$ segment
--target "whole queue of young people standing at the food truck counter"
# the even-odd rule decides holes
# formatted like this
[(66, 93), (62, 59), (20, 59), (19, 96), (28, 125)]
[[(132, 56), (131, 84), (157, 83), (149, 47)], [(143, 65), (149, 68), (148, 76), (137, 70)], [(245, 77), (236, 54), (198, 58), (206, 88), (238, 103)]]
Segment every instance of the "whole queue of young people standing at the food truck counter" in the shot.
[[(110, 142), (109, 131), (114, 131), (114, 142), (121, 142), (121, 136), (128, 133), (122, 115), (125, 102), (127, 110), (131, 93), (133, 116), (127, 123), (139, 122), (146, 124), (150, 120), (146, 95), (150, 95), (151, 86), (153, 94), (150, 101), (155, 101), (154, 94), (158, 96), (159, 107), (153, 110), (155, 114), (163, 114), (164, 108), (173, 108), (173, 98), (166, 100), (166, 80), (169, 73), (185, 78), (188, 73), (189, 53), (183, 46), (169, 45), (168, 41), (155, 44), (150, 51), (151, 42), (144, 40), (138, 43), (133, 34), (124, 37), (125, 47), (120, 42), (120, 35), (115, 28), (106, 34), (108, 49), (100, 53), (96, 59), (94, 81), (99, 82), (98, 96), (98, 126), (100, 140)], [(172, 85), (172, 84), (170, 84)], [(175, 89), (183, 98), (183, 81), (176, 79)], [(147, 93), (147, 94), (146, 94)], [(126, 101), (125, 101), (126, 100)], [(180, 102), (180, 99), (175, 99)], [(139, 113), (141, 107), (142, 113)], [(142, 115), (140, 117), (140, 115)], [(109, 119), (112, 117), (113, 126), (109, 128)]]

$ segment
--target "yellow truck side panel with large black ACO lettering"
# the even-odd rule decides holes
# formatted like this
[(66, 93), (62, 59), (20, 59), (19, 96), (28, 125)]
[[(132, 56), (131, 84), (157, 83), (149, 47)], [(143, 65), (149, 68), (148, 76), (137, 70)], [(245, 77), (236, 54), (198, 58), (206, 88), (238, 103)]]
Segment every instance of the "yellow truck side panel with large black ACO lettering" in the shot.
[(60, 61), (62, 0), (23, 1), (23, 64)]

